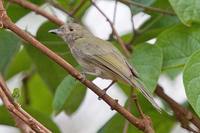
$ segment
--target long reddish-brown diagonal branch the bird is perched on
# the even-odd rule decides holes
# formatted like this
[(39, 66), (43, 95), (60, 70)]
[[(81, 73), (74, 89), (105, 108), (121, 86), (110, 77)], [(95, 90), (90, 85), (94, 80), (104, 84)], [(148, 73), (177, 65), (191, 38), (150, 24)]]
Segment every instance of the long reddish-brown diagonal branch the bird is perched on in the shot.
[(148, 128), (151, 127), (150, 119), (147, 121), (147, 120), (139, 119), (139, 118), (133, 116), (129, 111), (127, 111), (124, 107), (122, 107), (120, 104), (118, 104), (117, 100), (114, 100), (109, 95), (105, 94), (103, 90), (101, 90), (99, 87), (97, 87), (91, 81), (85, 79), (84, 76), (82, 76), (80, 74), (80, 72), (77, 71), (71, 64), (69, 64), (67, 61), (65, 61), (63, 58), (58, 56), (56, 53), (54, 53), (50, 49), (48, 49), (41, 42), (39, 42), (38, 40), (36, 40), (35, 38), (33, 38), (32, 36), (27, 34), (25, 31), (22, 31), (20, 28), (18, 28), (7, 16), (6, 11), (3, 7), (2, 0), (0, 0), (0, 16), (3, 16), (1, 21), (2, 21), (4, 28), (10, 29), (12, 32), (16, 33), (19, 37), (21, 37), (25, 41), (29, 42), (27, 44), (31, 44), (32, 46), (36, 47), (43, 54), (47, 55), (50, 59), (52, 59), (54, 62), (59, 64), (61, 67), (63, 67), (67, 72), (69, 72), (69, 74), (71, 74), (74, 78), (78, 79), (85, 86), (87, 86), (90, 90), (92, 90), (94, 93), (96, 93), (98, 96), (100, 96), (112, 109), (119, 112), (122, 116), (124, 116), (124, 118), (126, 118), (131, 124), (136, 126), (138, 129), (140, 129), (144, 132), (149, 131)]

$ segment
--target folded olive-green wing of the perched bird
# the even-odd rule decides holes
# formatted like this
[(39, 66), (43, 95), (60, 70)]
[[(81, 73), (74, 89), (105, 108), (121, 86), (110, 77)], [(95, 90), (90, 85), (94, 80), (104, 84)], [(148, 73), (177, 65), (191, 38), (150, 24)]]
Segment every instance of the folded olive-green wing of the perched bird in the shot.
[[(83, 43), (81, 49), (87, 55), (87, 59), (96, 61), (99, 65), (104, 64), (112, 72), (120, 75), (124, 80), (135, 76), (134, 70), (126, 58), (110, 42), (98, 38), (88, 39)], [(80, 46), (79, 46), (80, 47)]]

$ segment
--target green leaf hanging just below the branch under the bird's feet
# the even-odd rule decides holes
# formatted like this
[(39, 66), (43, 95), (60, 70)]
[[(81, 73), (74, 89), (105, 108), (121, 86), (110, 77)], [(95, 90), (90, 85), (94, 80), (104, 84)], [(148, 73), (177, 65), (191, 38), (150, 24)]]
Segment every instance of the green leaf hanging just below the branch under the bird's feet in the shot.
[(72, 114), (81, 104), (85, 93), (85, 86), (68, 75), (56, 89), (53, 101), (55, 113), (65, 109), (67, 114)]

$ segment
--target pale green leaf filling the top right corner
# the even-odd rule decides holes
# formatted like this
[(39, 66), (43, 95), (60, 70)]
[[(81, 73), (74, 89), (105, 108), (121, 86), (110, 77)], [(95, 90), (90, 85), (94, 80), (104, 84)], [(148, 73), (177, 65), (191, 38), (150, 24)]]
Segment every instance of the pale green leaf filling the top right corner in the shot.
[(193, 22), (200, 23), (199, 0), (169, 0), (179, 19), (187, 26)]

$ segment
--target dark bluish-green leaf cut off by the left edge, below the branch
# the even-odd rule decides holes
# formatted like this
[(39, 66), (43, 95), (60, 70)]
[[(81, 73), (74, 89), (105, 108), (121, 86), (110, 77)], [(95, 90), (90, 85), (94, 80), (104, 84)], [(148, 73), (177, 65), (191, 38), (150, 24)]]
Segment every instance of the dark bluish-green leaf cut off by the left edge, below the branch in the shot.
[(0, 31), (0, 72), (6, 73), (13, 57), (18, 52), (21, 41), (13, 33)]

